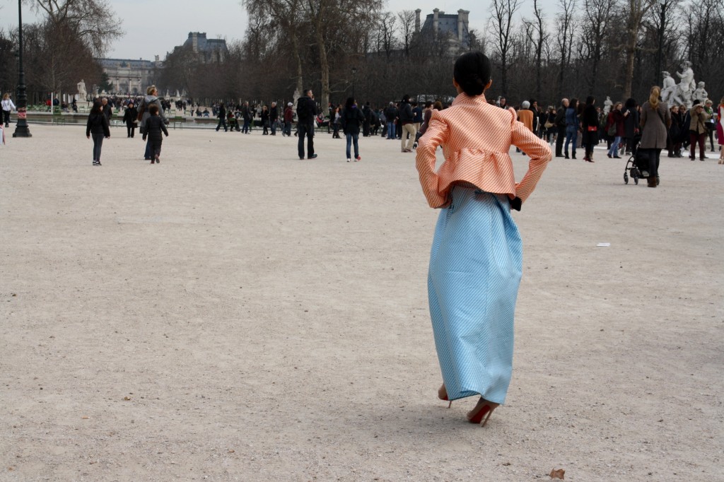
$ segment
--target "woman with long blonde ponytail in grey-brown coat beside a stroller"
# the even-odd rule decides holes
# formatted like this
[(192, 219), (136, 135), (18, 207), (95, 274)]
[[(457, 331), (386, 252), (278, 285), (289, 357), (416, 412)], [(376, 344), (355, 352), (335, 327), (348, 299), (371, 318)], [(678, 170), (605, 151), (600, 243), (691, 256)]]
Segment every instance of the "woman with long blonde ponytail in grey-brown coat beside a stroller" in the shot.
[(659, 157), (661, 150), (666, 148), (666, 137), (671, 125), (669, 108), (659, 96), (661, 88), (657, 85), (651, 88), (649, 100), (641, 106), (641, 145), (649, 154), (649, 187), (659, 185)]

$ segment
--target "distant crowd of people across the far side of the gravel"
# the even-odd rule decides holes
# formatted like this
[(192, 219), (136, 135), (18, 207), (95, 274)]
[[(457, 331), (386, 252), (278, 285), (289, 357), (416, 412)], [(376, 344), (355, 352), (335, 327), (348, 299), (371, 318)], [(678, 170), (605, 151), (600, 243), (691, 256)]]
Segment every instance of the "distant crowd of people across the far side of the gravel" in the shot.
[[(151, 88), (153, 94), (150, 92)], [(122, 122), (127, 127), (129, 138), (134, 137), (136, 128), (140, 128), (144, 135), (146, 120), (151, 115), (148, 109), (151, 103), (157, 106), (156, 115), (164, 125), (168, 124), (165, 112), (172, 108), (172, 101), (159, 98), (155, 86), (151, 88), (145, 97), (110, 96), (99, 98), (96, 102), (101, 104), (101, 111), (108, 122), (114, 110), (119, 114), (123, 112)], [(654, 184), (660, 182), (657, 168), (662, 150), (666, 150), (670, 158), (681, 158), (683, 153), (688, 151), (689, 158), (694, 161), (698, 148), (698, 158), (704, 161), (707, 159), (707, 140), (712, 153), (717, 151), (716, 141), (719, 164), (724, 164), (724, 98), (716, 106), (710, 99), (696, 99), (693, 102), (691, 108), (678, 103), (666, 105), (661, 101), (661, 88), (654, 87), (649, 99), (642, 104), (635, 98), (616, 102), (607, 98), (604, 105), (600, 106), (596, 98), (589, 96), (584, 102), (577, 98), (563, 98), (557, 108), (552, 105), (543, 108), (536, 99), (531, 98), (512, 109), (526, 129), (550, 145), (555, 145), (555, 157), (576, 159), (580, 147), (584, 151), (583, 160), (592, 163), (594, 148), (602, 143), (605, 143), (609, 158), (631, 156), (641, 149), (641, 157), (650, 158), (649, 169), (646, 169), (647, 178), (655, 179), (655, 183), (649, 182), (649, 185), (655, 187)], [(487, 99), (487, 103), (501, 109), (511, 109), (504, 97), (497, 100)], [(277, 102), (271, 102), (269, 106), (262, 103), (253, 105), (248, 101), (238, 104), (216, 102), (210, 106), (211, 111), (191, 99), (177, 100), (174, 105), (176, 109), (184, 112), (190, 110), (192, 116), (216, 117), (216, 131), (223, 129), (224, 132), (249, 134), (258, 128), (262, 135), (274, 136), (277, 132), (282, 132), (282, 136), (294, 135), (298, 137), (300, 158), (316, 158), (314, 135), (326, 130), (332, 138), (341, 139), (342, 132), (347, 140), (345, 158), (348, 161), (361, 160), (360, 137), (379, 136), (384, 140), (398, 140), (402, 153), (413, 152), (421, 136), (425, 134), (432, 114), (449, 107), (439, 100), (416, 101), (405, 94), (400, 101), (390, 101), (383, 107), (372, 106), (370, 102), (359, 106), (355, 98), (350, 97), (345, 103), (330, 102), (326, 109), (320, 109), (311, 89), (304, 91), (296, 105), (292, 102), (282, 106), (277, 106)], [(94, 103), (94, 109), (95, 107)], [(15, 106), (9, 93), (4, 94), (2, 110), (6, 127), (13, 109)], [(94, 111), (89, 116), (89, 123), (93, 114)], [(90, 137), (90, 133), (94, 133), (94, 143), (97, 143), (98, 147), (97, 150), (94, 148), (93, 161), (99, 165), (102, 143), (100, 134), (105, 131), (101, 124), (95, 122), (88, 135)], [(144, 158), (152, 163), (159, 162), (161, 145), (160, 134), (156, 132), (156, 122), (153, 124), (154, 133), (148, 137), (153, 138), (153, 145), (149, 141), (144, 155)], [(293, 132), (292, 127), (295, 127)], [(144, 135), (144, 138), (147, 135)], [(354, 156), (351, 153), (352, 148)], [(526, 155), (520, 149), (517, 150)]]

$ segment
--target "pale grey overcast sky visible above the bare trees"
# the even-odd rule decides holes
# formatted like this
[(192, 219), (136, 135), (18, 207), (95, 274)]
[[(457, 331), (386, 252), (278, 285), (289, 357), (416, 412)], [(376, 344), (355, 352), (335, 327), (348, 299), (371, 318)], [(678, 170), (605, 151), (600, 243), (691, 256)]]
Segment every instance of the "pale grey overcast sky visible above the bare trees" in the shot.
[[(206, 32), (209, 38), (241, 39), (244, 36), (247, 16), (240, 0), (109, 0), (111, 8), (122, 22), (123, 38), (115, 41), (108, 54), (112, 59), (153, 60), (158, 55), (164, 59), (174, 46), (181, 45), (189, 32)], [(541, 0), (544, 14), (552, 19), (556, 0)], [(0, 0), (2, 25), (6, 29), (17, 27), (17, 3)], [(149, 5), (151, 7), (149, 7)], [(521, 12), (530, 14), (533, 0), (523, 0)], [(470, 28), (482, 31), (489, 18), (490, 0), (422, 0), (411, 3), (389, 0), (385, 9), (399, 12), (403, 9), (422, 10), (424, 22), (432, 9), (456, 13), (458, 9), (470, 11)], [(35, 21), (29, 7), (23, 7), (23, 22)]]

